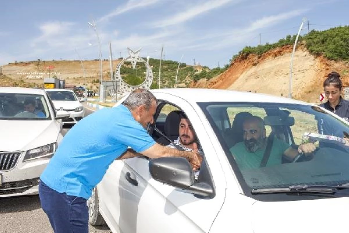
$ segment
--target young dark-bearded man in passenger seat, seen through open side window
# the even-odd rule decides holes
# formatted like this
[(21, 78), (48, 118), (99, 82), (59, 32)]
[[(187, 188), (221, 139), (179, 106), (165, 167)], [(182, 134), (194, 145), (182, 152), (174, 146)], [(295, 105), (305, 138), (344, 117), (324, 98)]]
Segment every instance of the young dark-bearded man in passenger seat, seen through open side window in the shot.
[[(205, 155), (203, 150), (198, 143), (195, 131), (193, 129), (192, 123), (189, 121), (188, 117), (183, 113), (179, 112), (179, 129), (178, 129), (178, 138), (167, 145), (167, 147), (176, 148), (183, 151), (194, 151), (200, 155)], [(195, 170), (194, 177), (197, 180), (199, 176), (199, 170)]]

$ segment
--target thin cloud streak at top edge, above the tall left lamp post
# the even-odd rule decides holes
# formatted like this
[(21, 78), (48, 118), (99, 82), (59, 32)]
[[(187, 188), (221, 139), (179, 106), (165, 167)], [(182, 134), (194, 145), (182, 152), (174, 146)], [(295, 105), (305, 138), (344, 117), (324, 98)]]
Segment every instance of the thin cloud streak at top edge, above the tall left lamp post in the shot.
[(130, 10), (154, 5), (155, 3), (159, 2), (159, 1), (160, 0), (141, 0), (141, 1), (140, 0), (129, 0), (125, 5), (122, 5), (118, 8), (116, 8), (111, 13), (101, 17), (97, 21), (100, 22), (100, 21), (109, 20), (117, 15), (128, 12)]

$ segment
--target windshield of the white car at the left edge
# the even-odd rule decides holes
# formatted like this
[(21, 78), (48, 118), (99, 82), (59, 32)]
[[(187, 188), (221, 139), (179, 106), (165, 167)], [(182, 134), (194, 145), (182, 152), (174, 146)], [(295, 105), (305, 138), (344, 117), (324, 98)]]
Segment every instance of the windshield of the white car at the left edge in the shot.
[(0, 120), (47, 120), (49, 108), (43, 95), (0, 93)]

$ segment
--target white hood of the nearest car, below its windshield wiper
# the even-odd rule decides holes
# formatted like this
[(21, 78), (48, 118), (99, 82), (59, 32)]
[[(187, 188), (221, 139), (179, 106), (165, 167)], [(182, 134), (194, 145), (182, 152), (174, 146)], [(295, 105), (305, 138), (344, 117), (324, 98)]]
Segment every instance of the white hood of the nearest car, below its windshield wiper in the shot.
[(287, 202), (255, 202), (254, 233), (343, 232), (348, 220), (349, 198)]

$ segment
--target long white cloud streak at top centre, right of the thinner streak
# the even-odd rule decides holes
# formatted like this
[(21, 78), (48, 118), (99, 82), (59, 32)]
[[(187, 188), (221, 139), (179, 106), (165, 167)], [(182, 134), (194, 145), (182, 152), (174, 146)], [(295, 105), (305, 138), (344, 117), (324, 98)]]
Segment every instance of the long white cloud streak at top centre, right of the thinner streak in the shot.
[(166, 26), (175, 25), (178, 23), (183, 23), (185, 21), (193, 19), (198, 15), (209, 12), (210, 10), (222, 7), (232, 1), (238, 2), (239, 0), (214, 0), (214, 1), (207, 1), (203, 4), (201, 4), (200, 2), (198, 5), (194, 5), (191, 8), (181, 11), (177, 15), (174, 15), (168, 19), (154, 22), (153, 27), (166, 27)]

